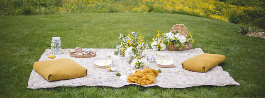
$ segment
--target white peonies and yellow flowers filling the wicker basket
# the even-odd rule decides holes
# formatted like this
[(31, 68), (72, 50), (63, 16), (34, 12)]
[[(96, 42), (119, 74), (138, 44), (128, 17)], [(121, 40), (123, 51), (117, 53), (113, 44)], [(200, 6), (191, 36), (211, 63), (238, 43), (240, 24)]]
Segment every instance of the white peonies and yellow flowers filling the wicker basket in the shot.
[[(174, 35), (175, 34), (175, 35)], [(183, 47), (188, 49), (188, 45), (185, 43), (192, 43), (194, 40), (192, 39), (192, 33), (190, 32), (189, 35), (181, 35), (180, 33), (176, 32), (169, 32), (167, 33), (164, 43), (167, 44), (176, 44), (175, 46), (178, 49), (182, 49)]]

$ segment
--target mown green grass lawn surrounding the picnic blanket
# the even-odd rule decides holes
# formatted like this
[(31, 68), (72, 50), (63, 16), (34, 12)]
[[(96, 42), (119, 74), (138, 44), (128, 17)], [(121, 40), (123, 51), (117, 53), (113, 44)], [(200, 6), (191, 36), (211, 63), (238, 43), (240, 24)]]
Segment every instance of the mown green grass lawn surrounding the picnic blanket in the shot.
[[(62, 48), (115, 48), (120, 33), (140, 30), (150, 41), (175, 24), (192, 32), (193, 48), (223, 54), (220, 66), (239, 86), (196, 86), (183, 89), (103, 86), (27, 89), (28, 79), (53, 36)], [(0, 17), (0, 97), (264, 97), (265, 40), (237, 34), (238, 25), (195, 16), (159, 13), (94, 13)]]

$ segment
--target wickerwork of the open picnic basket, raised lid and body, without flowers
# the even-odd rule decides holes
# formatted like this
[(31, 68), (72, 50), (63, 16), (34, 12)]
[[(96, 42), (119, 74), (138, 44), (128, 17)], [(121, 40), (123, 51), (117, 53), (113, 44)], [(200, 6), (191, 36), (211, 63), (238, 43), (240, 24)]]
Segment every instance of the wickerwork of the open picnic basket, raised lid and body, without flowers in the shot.
[[(188, 35), (188, 30), (187, 28), (184, 26), (184, 24), (177, 24), (177, 25), (174, 25), (170, 32), (174, 33), (175, 31), (178, 31), (181, 35)], [(175, 35), (175, 34), (174, 34)], [(192, 40), (192, 39), (190, 39)], [(176, 47), (176, 44), (168, 44), (168, 50), (171, 50), (171, 51), (180, 51), (180, 50), (189, 50), (189, 49), (192, 49), (192, 44), (191, 43), (185, 43), (185, 46), (188, 46), (188, 48), (186, 47), (182, 47), (182, 49), (178, 49), (178, 47)]]

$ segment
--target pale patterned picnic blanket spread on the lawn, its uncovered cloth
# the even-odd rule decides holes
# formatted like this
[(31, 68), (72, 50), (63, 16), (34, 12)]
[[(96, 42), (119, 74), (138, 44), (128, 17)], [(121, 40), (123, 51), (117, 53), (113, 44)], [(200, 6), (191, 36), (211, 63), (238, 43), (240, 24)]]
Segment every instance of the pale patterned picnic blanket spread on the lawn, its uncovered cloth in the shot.
[[(74, 49), (63, 49), (63, 51), (73, 51)], [(89, 49), (83, 49), (89, 50)], [(103, 58), (107, 56), (107, 53), (114, 52), (116, 49), (90, 49), (97, 50), (96, 57), (93, 58), (73, 58), (69, 52), (57, 55), (56, 58), (70, 58), (76, 61), (78, 64), (88, 69), (88, 74), (85, 77), (60, 80), (49, 82), (44, 77), (40, 76), (34, 69), (32, 70), (27, 88), (38, 89), (38, 88), (52, 88), (57, 86), (110, 86), (110, 87), (122, 87), (125, 85), (139, 85), (137, 83), (128, 83), (118, 76), (116, 72), (104, 72), (96, 71), (94, 68), (94, 58)], [(39, 61), (48, 60), (46, 53), (50, 53), (51, 49), (46, 49), (41, 55)], [(160, 86), (163, 88), (185, 88), (191, 86), (201, 85), (213, 85), (213, 86), (225, 86), (225, 85), (239, 85), (230, 77), (228, 72), (223, 71), (222, 67), (216, 66), (205, 73), (192, 72), (182, 68), (181, 63), (188, 58), (192, 58), (196, 55), (203, 54), (204, 52), (200, 48), (185, 50), (185, 51), (155, 51), (148, 49), (152, 54), (157, 53), (158, 55), (166, 55), (173, 58), (176, 63), (175, 68), (158, 68), (155, 62), (149, 63), (149, 68), (161, 69), (161, 73), (156, 77), (154, 84), (144, 85), (147, 86)], [(113, 66), (117, 67), (124, 75), (127, 68), (130, 67), (127, 59), (113, 59)], [(33, 66), (33, 65), (32, 65)]]

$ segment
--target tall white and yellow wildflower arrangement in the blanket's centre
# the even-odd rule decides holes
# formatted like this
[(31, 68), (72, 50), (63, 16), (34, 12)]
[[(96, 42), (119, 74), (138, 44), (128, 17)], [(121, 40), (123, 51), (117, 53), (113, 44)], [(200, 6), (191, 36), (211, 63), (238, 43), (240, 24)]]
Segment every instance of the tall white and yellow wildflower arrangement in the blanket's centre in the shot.
[[(146, 38), (144, 38), (143, 35), (141, 35), (140, 31), (134, 32), (128, 30), (128, 35), (125, 36), (123, 34), (120, 34), (119, 39), (122, 40), (121, 45), (125, 50), (125, 54), (130, 55), (130, 61), (131, 63), (133, 60), (137, 60), (137, 62), (145, 61), (147, 60), (148, 56), (146, 54), (146, 50), (148, 48), (148, 44), (145, 43)], [(142, 64), (146, 64), (141, 62), (141, 64), (136, 64), (134, 68), (143, 68)]]

